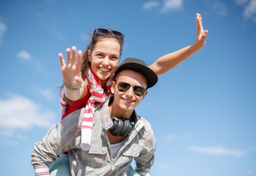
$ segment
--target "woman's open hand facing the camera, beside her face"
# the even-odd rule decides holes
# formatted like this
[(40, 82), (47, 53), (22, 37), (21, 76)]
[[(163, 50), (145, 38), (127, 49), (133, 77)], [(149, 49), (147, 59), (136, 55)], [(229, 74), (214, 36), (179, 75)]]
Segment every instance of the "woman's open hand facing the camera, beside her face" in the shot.
[[(72, 49), (72, 54), (71, 54)], [(72, 48), (67, 48), (67, 64), (65, 64), (65, 59), (63, 54), (59, 54), (61, 73), (63, 75), (63, 81), (71, 87), (79, 87), (82, 84), (82, 74), (81, 74), (81, 63), (82, 63), (82, 51), (77, 52), (77, 48), (73, 46)]]

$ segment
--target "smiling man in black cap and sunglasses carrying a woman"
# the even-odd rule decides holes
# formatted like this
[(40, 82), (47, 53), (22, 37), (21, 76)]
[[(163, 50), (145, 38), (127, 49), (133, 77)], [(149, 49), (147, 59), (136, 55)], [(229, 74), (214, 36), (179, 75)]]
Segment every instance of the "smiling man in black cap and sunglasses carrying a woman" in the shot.
[(85, 109), (79, 109), (35, 144), (35, 175), (49, 175), (49, 164), (67, 150), (71, 175), (127, 175), (133, 158), (136, 171), (150, 175), (156, 142), (149, 122), (136, 114), (135, 107), (156, 83), (157, 75), (141, 59), (125, 59), (111, 84), (113, 98), (96, 104), (90, 149), (80, 147)]

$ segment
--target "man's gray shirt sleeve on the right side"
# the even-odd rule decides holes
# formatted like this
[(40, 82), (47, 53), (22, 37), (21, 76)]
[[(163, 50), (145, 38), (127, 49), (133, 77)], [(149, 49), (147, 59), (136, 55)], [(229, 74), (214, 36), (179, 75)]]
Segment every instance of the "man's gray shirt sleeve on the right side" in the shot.
[(152, 128), (148, 129), (150, 129), (150, 132), (145, 135), (147, 139), (143, 144), (143, 150), (141, 151), (140, 155), (137, 158), (135, 158), (135, 171), (139, 175), (146, 176), (150, 175), (150, 169), (152, 167), (152, 164), (154, 164), (154, 151), (156, 150), (156, 141), (154, 138), (154, 133), (152, 131)]

